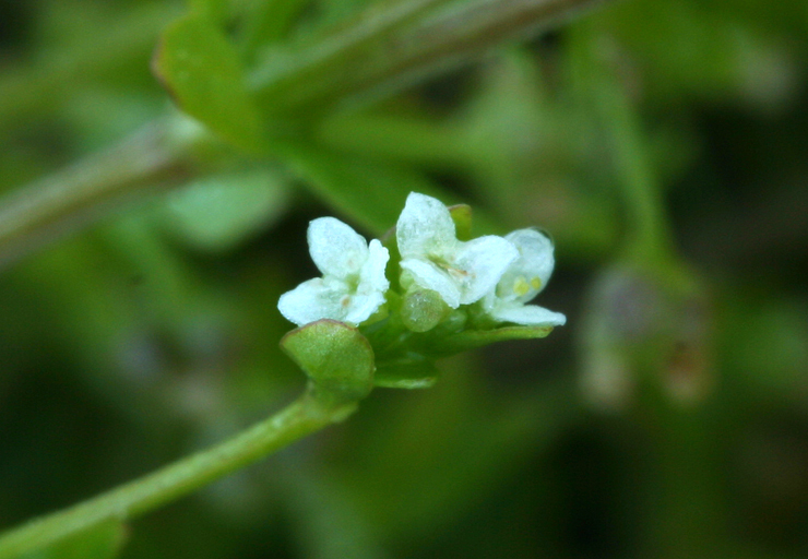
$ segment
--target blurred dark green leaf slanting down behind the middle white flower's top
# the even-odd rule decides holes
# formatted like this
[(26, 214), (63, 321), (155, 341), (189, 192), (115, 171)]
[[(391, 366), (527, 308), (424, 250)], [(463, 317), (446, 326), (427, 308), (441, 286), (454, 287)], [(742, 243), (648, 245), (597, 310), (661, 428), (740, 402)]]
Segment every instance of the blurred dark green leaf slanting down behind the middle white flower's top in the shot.
[(412, 169), (329, 152), (316, 145), (284, 142), (277, 147), (309, 188), (376, 235), (395, 225), (409, 192), (447, 199)]

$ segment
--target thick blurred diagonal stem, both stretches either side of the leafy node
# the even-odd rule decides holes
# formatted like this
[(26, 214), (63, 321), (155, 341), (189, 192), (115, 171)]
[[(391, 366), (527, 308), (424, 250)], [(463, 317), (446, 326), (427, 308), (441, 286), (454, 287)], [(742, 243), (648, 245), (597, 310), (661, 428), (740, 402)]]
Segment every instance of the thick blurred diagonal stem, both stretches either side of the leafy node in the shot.
[[(385, 11), (375, 5), (342, 32), (300, 47), (282, 68), (259, 68), (250, 83), (269, 116), (280, 119), (273, 124), (296, 111), (324, 116), (336, 105), (390, 95), (602, 1), (412, 0)], [(176, 138), (170, 124), (157, 120), (111, 151), (0, 201), (0, 267), (103, 215), (112, 202), (180, 185), (190, 175), (195, 144), (211, 138)]]

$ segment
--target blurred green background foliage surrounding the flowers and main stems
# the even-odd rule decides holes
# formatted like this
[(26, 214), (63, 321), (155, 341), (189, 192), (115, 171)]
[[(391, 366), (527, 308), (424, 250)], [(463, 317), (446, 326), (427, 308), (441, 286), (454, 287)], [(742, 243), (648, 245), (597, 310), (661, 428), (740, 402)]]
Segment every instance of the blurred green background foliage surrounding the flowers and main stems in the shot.
[[(376, 390), (128, 525), (121, 557), (805, 557), (808, 4), (625, 0), (418, 85), (336, 68), (228, 97), (368, 3), (0, 1), (0, 190), (171, 110), (152, 52), (199, 21), (221, 73), (173, 94), (235, 146), (3, 270), (0, 526), (293, 397), (276, 304), (314, 275), (307, 222), (381, 235), (418, 190), (472, 204), (478, 233), (551, 233), (542, 304), (568, 325)], [(326, 98), (352, 70), (390, 93)], [(98, 554), (121, 540), (104, 530)]]

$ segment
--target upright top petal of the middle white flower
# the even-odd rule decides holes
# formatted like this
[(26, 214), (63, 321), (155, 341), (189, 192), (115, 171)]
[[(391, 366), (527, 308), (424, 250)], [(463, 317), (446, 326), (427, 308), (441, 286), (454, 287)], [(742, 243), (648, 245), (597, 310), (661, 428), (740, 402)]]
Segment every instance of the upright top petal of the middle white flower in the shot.
[(402, 258), (441, 254), (458, 243), (454, 222), (440, 200), (411, 192), (395, 225)]

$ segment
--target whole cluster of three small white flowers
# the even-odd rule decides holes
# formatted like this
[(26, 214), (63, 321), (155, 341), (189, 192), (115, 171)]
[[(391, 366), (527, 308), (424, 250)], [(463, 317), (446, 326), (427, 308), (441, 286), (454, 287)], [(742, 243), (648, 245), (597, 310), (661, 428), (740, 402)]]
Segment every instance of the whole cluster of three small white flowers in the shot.
[[(556, 326), (563, 314), (526, 305), (552, 273), (552, 243), (534, 229), (506, 237), (458, 239), (449, 209), (433, 198), (411, 193), (395, 228), (401, 254), (402, 289), (427, 290), (449, 309), (470, 310), (496, 323)], [(281, 313), (297, 325), (332, 319), (359, 325), (383, 316), (391, 282), (385, 276), (390, 251), (373, 239), (368, 245), (333, 217), (314, 219), (309, 250), (322, 277), (284, 294)], [(402, 295), (402, 294), (400, 294)]]

